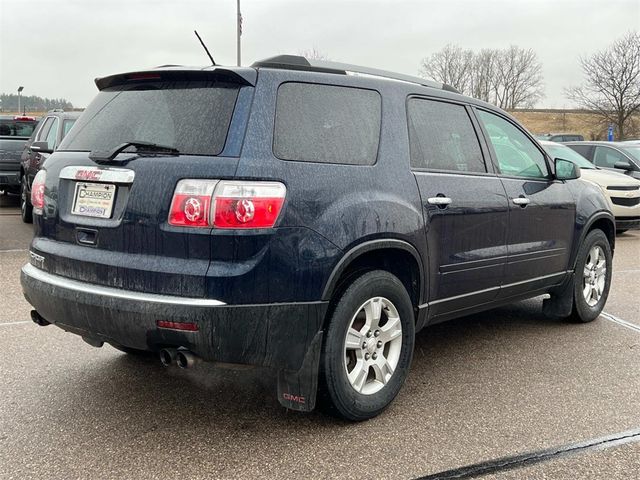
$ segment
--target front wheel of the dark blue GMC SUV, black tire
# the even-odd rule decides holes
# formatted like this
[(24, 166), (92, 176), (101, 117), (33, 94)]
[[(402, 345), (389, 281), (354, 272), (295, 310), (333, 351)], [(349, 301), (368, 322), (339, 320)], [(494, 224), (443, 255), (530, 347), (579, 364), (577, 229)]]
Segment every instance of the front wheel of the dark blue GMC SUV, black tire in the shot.
[[(584, 291), (586, 290), (585, 279), (585, 266), (590, 259), (590, 252), (593, 248), (600, 248), (604, 253), (604, 260), (606, 266), (604, 287), (602, 293), (593, 305), (590, 305), (585, 298)], [(611, 287), (611, 273), (612, 273), (613, 256), (611, 254), (611, 245), (609, 240), (602, 230), (593, 230), (589, 232), (580, 245), (578, 250), (578, 257), (576, 259), (576, 269), (574, 275), (574, 288), (573, 288), (573, 311), (570, 319), (575, 322), (587, 323), (595, 320), (602, 312), (607, 297), (609, 296), (609, 288)], [(592, 299), (595, 300), (595, 299)]]

